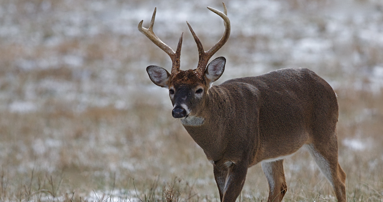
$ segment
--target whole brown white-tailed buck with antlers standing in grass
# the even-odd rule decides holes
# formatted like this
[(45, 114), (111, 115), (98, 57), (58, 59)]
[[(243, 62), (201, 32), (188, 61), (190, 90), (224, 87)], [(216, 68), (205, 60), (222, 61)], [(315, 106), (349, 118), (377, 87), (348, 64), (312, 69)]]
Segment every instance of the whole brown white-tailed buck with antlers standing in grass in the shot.
[(345, 202), (346, 174), (338, 163), (336, 135), (338, 103), (324, 79), (309, 69), (286, 68), (213, 85), (226, 59), (208, 61), (230, 35), (223, 6), (223, 13), (208, 7), (223, 18), (225, 26), (223, 37), (208, 51), (187, 22), (199, 52), (196, 69), (180, 70), (183, 33), (175, 52), (154, 34), (156, 8), (149, 29), (142, 27), (143, 21), (138, 25), (172, 59), (170, 73), (158, 66), (148, 66), (146, 71), (154, 84), (169, 89), (173, 117), (213, 164), (221, 202), (236, 201), (247, 169), (257, 163), (268, 181), (267, 201), (281, 201), (287, 191), (283, 159), (303, 146), (332, 184), (338, 202)]

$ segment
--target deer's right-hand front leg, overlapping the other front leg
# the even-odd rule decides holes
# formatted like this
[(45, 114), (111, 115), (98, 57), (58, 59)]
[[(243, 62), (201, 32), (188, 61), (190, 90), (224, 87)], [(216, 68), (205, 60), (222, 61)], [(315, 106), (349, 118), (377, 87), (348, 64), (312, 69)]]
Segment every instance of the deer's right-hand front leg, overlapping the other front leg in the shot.
[(248, 165), (248, 163), (241, 162), (228, 166), (223, 187), (223, 196), (221, 200), (222, 202), (236, 201), (245, 183)]

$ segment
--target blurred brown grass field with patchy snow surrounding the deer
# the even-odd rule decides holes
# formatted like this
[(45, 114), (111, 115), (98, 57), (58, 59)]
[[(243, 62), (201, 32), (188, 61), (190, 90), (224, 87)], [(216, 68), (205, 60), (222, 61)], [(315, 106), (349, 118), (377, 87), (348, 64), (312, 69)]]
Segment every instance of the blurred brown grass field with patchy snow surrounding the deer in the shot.
[[(225, 80), (306, 67), (338, 95), (339, 161), (347, 197), (383, 199), (383, 2), (227, 0)], [(148, 28), (195, 69), (196, 44), (223, 35), (206, 7), (222, 2), (0, 0), (0, 201), (159, 201), (163, 186), (182, 200), (219, 201), (213, 166), (172, 118), (166, 89), (146, 67), (169, 56), (137, 30)], [(285, 160), (285, 201), (335, 201), (306, 151)], [(134, 185), (133, 185), (134, 179)], [(267, 200), (260, 165), (239, 201)], [(108, 198), (109, 197), (109, 198)]]

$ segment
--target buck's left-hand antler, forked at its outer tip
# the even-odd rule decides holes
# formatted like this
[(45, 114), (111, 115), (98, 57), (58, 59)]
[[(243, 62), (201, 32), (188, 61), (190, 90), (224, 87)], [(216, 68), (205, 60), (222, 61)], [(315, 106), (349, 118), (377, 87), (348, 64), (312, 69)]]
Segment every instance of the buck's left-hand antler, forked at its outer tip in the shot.
[(138, 30), (147, 36), (154, 44), (156, 44), (160, 49), (165, 51), (170, 56), (170, 59), (172, 59), (172, 77), (174, 77), (179, 71), (180, 71), (180, 56), (181, 56), (181, 46), (182, 46), (182, 35), (180, 37), (180, 40), (178, 41), (177, 50), (174, 52), (173, 49), (171, 49), (168, 45), (166, 45), (164, 42), (162, 42), (153, 32), (153, 25), (154, 25), (154, 18), (155, 18), (155, 11), (157, 10), (157, 7), (154, 8), (154, 12), (152, 15), (152, 20), (150, 21), (149, 29), (146, 29), (142, 27), (142, 22), (144, 20), (141, 20), (141, 22), (138, 24)]

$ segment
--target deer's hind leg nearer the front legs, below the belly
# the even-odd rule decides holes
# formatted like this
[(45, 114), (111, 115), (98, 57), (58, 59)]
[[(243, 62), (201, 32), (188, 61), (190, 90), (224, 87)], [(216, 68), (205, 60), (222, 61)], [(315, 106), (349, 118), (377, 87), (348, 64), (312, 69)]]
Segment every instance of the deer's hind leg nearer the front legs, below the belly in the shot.
[(283, 159), (273, 162), (262, 162), (261, 166), (270, 189), (267, 202), (280, 202), (287, 191)]

